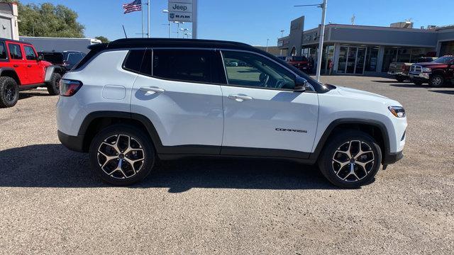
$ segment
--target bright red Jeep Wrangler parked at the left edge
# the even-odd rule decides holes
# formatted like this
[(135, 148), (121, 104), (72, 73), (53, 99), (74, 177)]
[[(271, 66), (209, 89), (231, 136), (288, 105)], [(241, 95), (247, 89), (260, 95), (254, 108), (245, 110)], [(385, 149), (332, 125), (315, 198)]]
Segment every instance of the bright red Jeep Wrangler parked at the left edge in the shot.
[(47, 87), (58, 95), (63, 70), (38, 57), (28, 42), (0, 39), (0, 108), (15, 106), (19, 91)]

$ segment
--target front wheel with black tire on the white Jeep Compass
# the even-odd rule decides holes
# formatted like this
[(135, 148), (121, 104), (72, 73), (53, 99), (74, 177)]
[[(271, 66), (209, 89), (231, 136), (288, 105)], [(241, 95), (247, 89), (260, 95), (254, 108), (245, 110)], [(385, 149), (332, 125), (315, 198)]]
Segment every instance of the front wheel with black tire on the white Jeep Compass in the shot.
[[(350, 152), (353, 152), (351, 153), (353, 158), (358, 157), (354, 160), (350, 159), (350, 156), (345, 152), (341, 152), (350, 144)], [(360, 152), (359, 145), (364, 152), (362, 155), (358, 155)], [(358, 152), (355, 154), (355, 151)], [(336, 159), (336, 162), (334, 159)], [(338, 162), (342, 162), (342, 164)], [(360, 166), (360, 163), (364, 164), (365, 162), (369, 163), (365, 164), (364, 167)], [(328, 141), (319, 159), (319, 168), (323, 176), (335, 186), (359, 188), (374, 180), (381, 162), (382, 151), (380, 146), (370, 135), (357, 130), (345, 130)], [(343, 166), (343, 164), (345, 165)], [(354, 174), (351, 174), (352, 167)]]

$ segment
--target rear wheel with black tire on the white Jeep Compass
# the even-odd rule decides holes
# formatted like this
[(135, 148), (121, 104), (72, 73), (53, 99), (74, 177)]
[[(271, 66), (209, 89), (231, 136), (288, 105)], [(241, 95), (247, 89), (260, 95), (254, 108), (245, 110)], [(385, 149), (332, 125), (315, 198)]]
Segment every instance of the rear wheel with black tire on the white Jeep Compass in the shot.
[[(139, 150), (131, 151), (126, 154), (119, 153), (116, 155), (116, 149), (113, 146), (103, 144), (104, 141), (111, 145), (116, 145), (118, 142), (120, 152), (125, 148), (125, 142), (131, 140), (129, 143), (131, 147), (135, 149), (143, 149), (142, 152)], [(131, 137), (126, 139), (127, 137)], [(114, 144), (112, 144), (114, 142)], [(138, 146), (139, 145), (139, 146)], [(105, 153), (107, 156), (113, 156), (110, 160), (107, 160), (101, 153)], [(133, 154), (135, 153), (135, 155)], [(141, 154), (140, 154), (141, 153)], [(114, 158), (116, 157), (116, 158)], [(128, 160), (138, 159), (133, 164), (129, 163)], [(143, 160), (142, 160), (143, 159)], [(92, 140), (92, 144), (89, 148), (89, 160), (92, 171), (99, 176), (106, 183), (110, 183), (116, 186), (128, 186), (133, 183), (137, 183), (145, 179), (150, 174), (155, 165), (155, 148), (150, 138), (145, 133), (130, 125), (112, 125), (96, 134)], [(121, 161), (121, 163), (120, 163)], [(118, 163), (117, 163), (118, 162)], [(105, 164), (104, 169), (100, 164)], [(134, 169), (131, 166), (135, 166)], [(115, 169), (121, 169), (121, 171)]]

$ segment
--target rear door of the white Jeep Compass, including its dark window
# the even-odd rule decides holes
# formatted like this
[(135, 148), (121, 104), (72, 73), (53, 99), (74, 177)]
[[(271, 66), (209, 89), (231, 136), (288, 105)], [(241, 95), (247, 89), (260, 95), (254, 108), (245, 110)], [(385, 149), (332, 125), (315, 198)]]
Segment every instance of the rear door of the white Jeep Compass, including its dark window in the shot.
[(188, 145), (214, 147), (209, 150), (213, 154), (221, 151), (221, 86), (208, 82), (213, 55), (212, 50), (153, 50), (153, 55), (149, 50), (145, 54), (142, 73), (150, 76), (140, 74), (135, 80), (131, 111), (153, 122), (163, 146), (189, 148), (187, 152), (175, 148), (169, 154), (194, 153)]

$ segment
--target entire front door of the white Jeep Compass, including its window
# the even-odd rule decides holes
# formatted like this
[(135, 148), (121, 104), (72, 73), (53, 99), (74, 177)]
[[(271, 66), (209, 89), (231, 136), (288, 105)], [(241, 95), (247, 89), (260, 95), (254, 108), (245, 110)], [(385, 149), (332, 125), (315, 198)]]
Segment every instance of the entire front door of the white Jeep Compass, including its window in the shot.
[[(295, 75), (277, 62), (252, 52), (223, 51), (228, 84), (223, 94), (224, 132), (221, 154), (283, 157), (292, 150), (309, 157), (319, 112), (318, 96), (295, 92)], [(238, 64), (231, 64), (238, 63)], [(265, 149), (265, 150), (263, 150)], [(270, 152), (270, 149), (272, 153)], [(251, 155), (248, 153), (248, 155)], [(287, 157), (295, 157), (289, 152)]]

